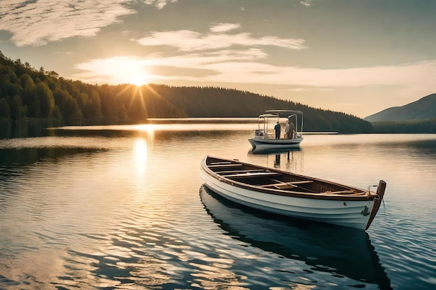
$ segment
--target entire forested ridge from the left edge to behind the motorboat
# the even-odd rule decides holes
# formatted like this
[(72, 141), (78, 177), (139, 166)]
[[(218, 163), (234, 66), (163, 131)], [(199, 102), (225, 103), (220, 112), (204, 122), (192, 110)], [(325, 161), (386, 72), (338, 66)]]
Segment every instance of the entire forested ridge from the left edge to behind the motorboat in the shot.
[(60, 124), (120, 124), (148, 118), (257, 117), (270, 109), (304, 112), (305, 131), (369, 132), (371, 123), (252, 92), (164, 85), (91, 85), (36, 70), (0, 51), (0, 119), (51, 119)]

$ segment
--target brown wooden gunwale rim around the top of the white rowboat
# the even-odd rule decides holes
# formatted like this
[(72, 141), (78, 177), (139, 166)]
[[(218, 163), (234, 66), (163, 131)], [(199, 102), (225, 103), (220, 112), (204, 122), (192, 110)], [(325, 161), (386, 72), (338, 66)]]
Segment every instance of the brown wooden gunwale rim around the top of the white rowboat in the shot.
[[(241, 164), (241, 166), (254, 166), (256, 168), (262, 168), (262, 169), (268, 170), (270, 172), (277, 172), (277, 173), (281, 173), (283, 175), (293, 175), (295, 177), (301, 177), (302, 179), (308, 179), (308, 180), (311, 180), (313, 182), (320, 182), (320, 183), (340, 186), (343, 188), (350, 188), (350, 190), (360, 191), (361, 193), (359, 193), (358, 195), (337, 194), (337, 193), (333, 193), (333, 192), (332, 193), (302, 193), (302, 192), (297, 192), (297, 191), (286, 191), (286, 190), (282, 190), (282, 189), (278, 189), (278, 188), (266, 188), (263, 186), (255, 186), (255, 185), (251, 185), (251, 184), (246, 184), (244, 182), (238, 182), (237, 180), (229, 179), (228, 177), (226, 177), (226, 175), (220, 175), (219, 174), (220, 172), (215, 172), (215, 171), (211, 170), (209, 168), (208, 164), (206, 163), (206, 161), (208, 159), (218, 159), (221, 161), (231, 161), (233, 163), (236, 162), (236, 163)], [(344, 184), (338, 184), (336, 182), (329, 182), (329, 181), (324, 180), (324, 179), (318, 179), (315, 177), (309, 177), (309, 176), (299, 175), (299, 174), (292, 173), (292, 172), (278, 170), (276, 168), (268, 168), (265, 166), (255, 166), (253, 164), (244, 163), (244, 162), (241, 162), (239, 160), (224, 159), (221, 157), (215, 157), (215, 156), (209, 156), (209, 155), (205, 156), (205, 158), (201, 162), (201, 167), (203, 168), (203, 170), (205, 170), (206, 173), (208, 173), (208, 175), (210, 175), (211, 177), (214, 177), (219, 182), (224, 182), (225, 184), (229, 184), (231, 186), (236, 186), (238, 188), (244, 188), (244, 189), (247, 189), (250, 191), (256, 191), (256, 192), (272, 194), (272, 195), (282, 195), (282, 196), (293, 197), (293, 198), (309, 198), (309, 199), (316, 199), (316, 200), (349, 200), (349, 201), (371, 201), (379, 196), (375, 193), (371, 193), (371, 192), (365, 191), (364, 189), (357, 188), (354, 186), (347, 186)], [(247, 177), (250, 177), (250, 176), (247, 175)], [(252, 175), (252, 177), (254, 177), (254, 175)]]

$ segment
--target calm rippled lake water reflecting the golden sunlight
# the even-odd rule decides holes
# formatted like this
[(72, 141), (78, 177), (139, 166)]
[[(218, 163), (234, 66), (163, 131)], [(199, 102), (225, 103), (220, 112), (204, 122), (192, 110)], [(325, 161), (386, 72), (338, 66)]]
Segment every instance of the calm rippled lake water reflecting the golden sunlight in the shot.
[[(434, 289), (436, 135), (306, 134), (254, 154), (253, 120), (63, 127), (0, 139), (0, 289)], [(360, 188), (367, 231), (238, 207), (205, 155)], [(375, 190), (375, 187), (374, 187)]]

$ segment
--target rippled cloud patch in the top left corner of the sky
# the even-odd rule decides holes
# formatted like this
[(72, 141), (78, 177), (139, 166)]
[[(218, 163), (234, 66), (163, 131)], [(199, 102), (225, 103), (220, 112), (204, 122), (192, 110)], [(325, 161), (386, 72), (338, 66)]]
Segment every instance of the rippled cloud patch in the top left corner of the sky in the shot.
[(104, 26), (120, 22), (119, 17), (135, 13), (123, 3), (102, 1), (8, 1), (0, 6), (0, 30), (13, 34), (15, 45), (45, 45), (71, 37), (94, 36)]

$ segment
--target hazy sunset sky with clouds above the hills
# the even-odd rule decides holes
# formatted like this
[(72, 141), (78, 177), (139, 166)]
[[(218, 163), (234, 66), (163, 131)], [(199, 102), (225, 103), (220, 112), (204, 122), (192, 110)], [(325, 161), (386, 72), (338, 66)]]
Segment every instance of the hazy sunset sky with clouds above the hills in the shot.
[(247, 90), (364, 118), (436, 92), (433, 0), (0, 0), (0, 51), (91, 84)]

